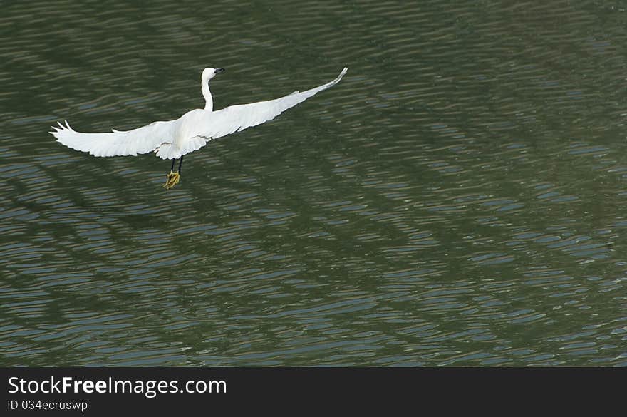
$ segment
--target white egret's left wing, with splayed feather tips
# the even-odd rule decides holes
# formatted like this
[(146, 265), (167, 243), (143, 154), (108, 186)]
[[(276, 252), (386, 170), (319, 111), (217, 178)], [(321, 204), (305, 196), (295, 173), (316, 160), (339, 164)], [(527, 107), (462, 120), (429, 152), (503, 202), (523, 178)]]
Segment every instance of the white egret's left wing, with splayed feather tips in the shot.
[(111, 133), (81, 133), (66, 125), (58, 123), (53, 126), (57, 142), (68, 148), (88, 152), (94, 156), (125, 156), (149, 153), (164, 143), (174, 141), (175, 123), (177, 120), (155, 122), (141, 128)]

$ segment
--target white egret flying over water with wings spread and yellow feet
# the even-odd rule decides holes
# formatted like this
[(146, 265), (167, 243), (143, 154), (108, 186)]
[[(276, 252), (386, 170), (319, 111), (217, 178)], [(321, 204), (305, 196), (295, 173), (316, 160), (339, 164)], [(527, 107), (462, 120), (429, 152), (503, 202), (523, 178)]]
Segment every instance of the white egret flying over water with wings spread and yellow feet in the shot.
[[(231, 105), (222, 110), (213, 110), (213, 98), (209, 91), (209, 81), (224, 68), (204, 68), (201, 76), (201, 90), (204, 97), (204, 109), (188, 111), (176, 120), (155, 122), (141, 128), (111, 133), (81, 133), (58, 123), (53, 126), (57, 142), (68, 148), (88, 152), (94, 156), (136, 156), (155, 152), (159, 158), (171, 159), (172, 167), (166, 175), (163, 187), (166, 190), (178, 184), (181, 177), (183, 155), (202, 148), (212, 139), (221, 138), (230, 133), (239, 132), (252, 126), (274, 119), (288, 108), (305, 101), (314, 94), (335, 86), (340, 82), (347, 68), (333, 81), (307, 91), (294, 91), (289, 96), (257, 103)], [(180, 158), (180, 159), (179, 159)], [(179, 159), (177, 171), (175, 161)]]

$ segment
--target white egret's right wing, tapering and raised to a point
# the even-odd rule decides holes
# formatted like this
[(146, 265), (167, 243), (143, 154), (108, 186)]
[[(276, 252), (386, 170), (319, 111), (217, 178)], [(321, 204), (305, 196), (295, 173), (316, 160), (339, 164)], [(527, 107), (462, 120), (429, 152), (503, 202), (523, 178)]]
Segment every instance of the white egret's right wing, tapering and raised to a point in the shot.
[(294, 91), (289, 96), (276, 98), (275, 100), (259, 101), (258, 103), (232, 105), (222, 110), (211, 113), (209, 117), (202, 118), (192, 130), (192, 136), (199, 136), (206, 140), (220, 138), (229, 133), (239, 132), (252, 126), (260, 125), (276, 118), (288, 108), (302, 103), (307, 98), (320, 91), (335, 86), (340, 82), (347, 68), (344, 68), (338, 78), (322, 86), (311, 90)]

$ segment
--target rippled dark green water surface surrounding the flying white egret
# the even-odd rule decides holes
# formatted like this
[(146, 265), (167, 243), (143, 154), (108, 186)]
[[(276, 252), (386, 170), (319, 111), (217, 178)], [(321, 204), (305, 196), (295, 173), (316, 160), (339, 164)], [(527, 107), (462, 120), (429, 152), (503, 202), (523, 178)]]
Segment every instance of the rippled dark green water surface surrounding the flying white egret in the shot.
[[(616, 1), (11, 1), (0, 364), (626, 366)], [(170, 163), (126, 130), (333, 79)]]

